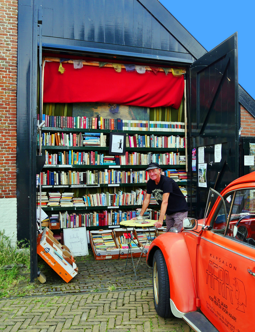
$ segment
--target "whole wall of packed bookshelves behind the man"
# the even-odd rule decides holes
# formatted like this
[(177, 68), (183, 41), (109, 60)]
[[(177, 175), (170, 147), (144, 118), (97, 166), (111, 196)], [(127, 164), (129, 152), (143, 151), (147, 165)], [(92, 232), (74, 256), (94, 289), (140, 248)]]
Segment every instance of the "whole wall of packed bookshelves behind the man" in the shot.
[[(86, 128), (82, 127), (88, 121), (88, 118), (83, 119), (86, 117), (51, 116), (52, 125), (49, 125), (49, 116), (42, 117), (45, 118), (47, 126), (42, 128), (41, 151), (46, 163), (38, 181), (41, 181), (44, 198), (48, 198), (48, 201), (42, 200), (42, 209), (49, 217), (59, 215), (60, 229), (56, 231), (81, 224), (89, 230), (108, 229), (118, 225), (123, 217), (135, 216), (145, 198), (149, 179), (145, 169), (150, 162), (159, 163), (162, 174), (173, 177), (184, 191), (188, 185), (187, 176), (184, 176), (187, 169), (184, 123), (163, 122), (160, 117), (155, 117), (154, 120), (158, 121), (130, 123), (121, 120), (118, 123), (118, 119), (109, 119), (107, 124), (105, 119), (97, 117), (91, 119), (90, 128)], [(70, 127), (66, 127), (67, 121)], [(111, 129), (105, 129), (110, 125)], [(112, 156), (114, 160), (111, 161), (107, 160), (110, 133), (126, 134), (125, 155)], [(85, 140), (87, 145), (84, 146)], [(56, 205), (52, 193), (56, 193)], [(64, 194), (68, 196), (68, 193), (67, 205), (62, 202), (61, 206), (61, 200), (65, 201)], [(112, 200), (108, 204), (106, 194)], [(89, 204), (88, 197), (93, 203)], [(53, 201), (48, 203), (51, 199)], [(83, 200), (84, 205), (75, 206), (75, 199), (80, 199), (80, 204)], [(158, 208), (158, 204), (149, 205), (151, 219), (158, 218)]]

